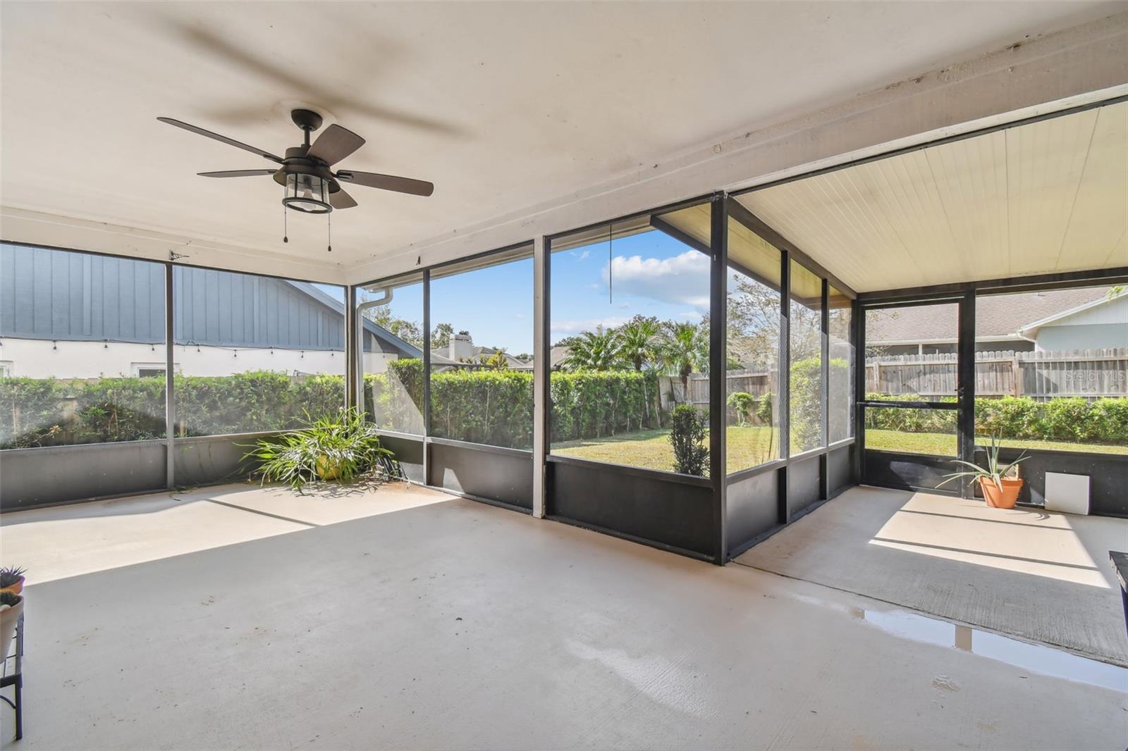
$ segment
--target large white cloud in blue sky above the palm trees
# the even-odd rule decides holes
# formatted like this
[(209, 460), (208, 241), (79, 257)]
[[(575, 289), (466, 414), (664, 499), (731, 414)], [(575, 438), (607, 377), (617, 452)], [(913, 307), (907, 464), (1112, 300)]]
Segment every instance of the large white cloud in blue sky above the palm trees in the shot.
[(708, 272), (710, 258), (698, 250), (672, 258), (625, 256), (615, 258), (610, 270), (603, 266), (603, 284), (610, 283), (623, 294), (693, 306), (704, 312), (708, 310)]

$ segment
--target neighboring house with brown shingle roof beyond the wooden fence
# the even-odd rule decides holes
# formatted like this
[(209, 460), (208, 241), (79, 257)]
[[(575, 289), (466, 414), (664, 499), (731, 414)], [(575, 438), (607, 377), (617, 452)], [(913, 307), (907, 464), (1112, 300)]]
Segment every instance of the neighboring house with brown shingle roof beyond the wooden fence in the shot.
[[(866, 347), (882, 354), (955, 352), (954, 304), (876, 310), (866, 319)], [(979, 352), (1100, 350), (1128, 346), (1128, 294), (1108, 288), (1050, 290), (976, 298)]]

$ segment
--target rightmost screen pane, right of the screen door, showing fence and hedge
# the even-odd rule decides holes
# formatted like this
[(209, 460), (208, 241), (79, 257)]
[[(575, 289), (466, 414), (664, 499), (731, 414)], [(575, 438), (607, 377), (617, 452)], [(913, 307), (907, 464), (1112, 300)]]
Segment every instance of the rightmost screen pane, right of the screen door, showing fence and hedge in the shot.
[(1128, 453), (1122, 285), (977, 295), (976, 337), (999, 335), (1025, 346), (976, 353), (977, 444)]

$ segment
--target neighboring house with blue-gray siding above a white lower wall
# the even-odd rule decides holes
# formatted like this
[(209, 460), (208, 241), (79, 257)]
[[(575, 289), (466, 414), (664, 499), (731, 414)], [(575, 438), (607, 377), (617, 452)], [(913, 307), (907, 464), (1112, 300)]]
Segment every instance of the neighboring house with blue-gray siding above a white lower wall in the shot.
[[(173, 280), (176, 372), (344, 373), (344, 303), (315, 285), (192, 266)], [(368, 320), (363, 338), (367, 372), (422, 356)], [(0, 245), (0, 376), (157, 376), (164, 342), (164, 266)]]

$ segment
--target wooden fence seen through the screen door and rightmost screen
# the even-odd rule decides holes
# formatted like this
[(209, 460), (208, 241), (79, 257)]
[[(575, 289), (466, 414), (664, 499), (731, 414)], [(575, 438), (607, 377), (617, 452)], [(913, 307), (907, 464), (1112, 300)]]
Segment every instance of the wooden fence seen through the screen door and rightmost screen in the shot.
[[(865, 390), (889, 396), (954, 397), (957, 355), (885, 355), (865, 361)], [(1128, 348), (977, 352), (976, 396), (1128, 396)]]

